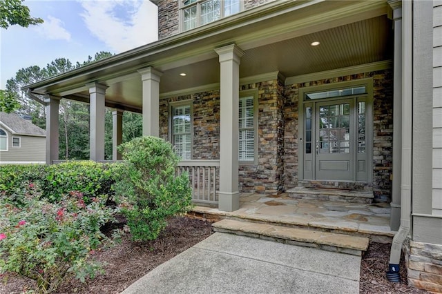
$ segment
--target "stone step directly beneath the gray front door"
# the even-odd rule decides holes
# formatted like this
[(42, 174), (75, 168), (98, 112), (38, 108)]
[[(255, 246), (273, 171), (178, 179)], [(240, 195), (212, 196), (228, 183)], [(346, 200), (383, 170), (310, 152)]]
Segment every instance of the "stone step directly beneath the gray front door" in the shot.
[(371, 204), (374, 198), (372, 191), (355, 191), (333, 188), (295, 187), (287, 190), (287, 193), (289, 197), (295, 199), (319, 199), (366, 204)]

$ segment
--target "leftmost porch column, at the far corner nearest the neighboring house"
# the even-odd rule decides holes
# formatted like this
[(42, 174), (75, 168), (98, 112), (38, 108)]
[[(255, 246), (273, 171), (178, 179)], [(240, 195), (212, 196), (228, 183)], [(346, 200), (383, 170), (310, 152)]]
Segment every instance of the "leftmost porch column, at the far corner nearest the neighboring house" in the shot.
[(52, 164), (58, 160), (58, 136), (59, 136), (59, 105), (58, 97), (45, 99), (46, 104), (46, 164)]

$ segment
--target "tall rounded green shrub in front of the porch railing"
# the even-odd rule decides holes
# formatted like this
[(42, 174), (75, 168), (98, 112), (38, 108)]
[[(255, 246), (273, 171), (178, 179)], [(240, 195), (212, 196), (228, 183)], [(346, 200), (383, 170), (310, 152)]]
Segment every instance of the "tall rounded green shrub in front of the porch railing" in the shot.
[(138, 137), (119, 146), (124, 164), (117, 181), (117, 195), (126, 194), (126, 215), (135, 241), (156, 239), (166, 219), (191, 207), (189, 176), (175, 176), (180, 161), (171, 146), (157, 137)]

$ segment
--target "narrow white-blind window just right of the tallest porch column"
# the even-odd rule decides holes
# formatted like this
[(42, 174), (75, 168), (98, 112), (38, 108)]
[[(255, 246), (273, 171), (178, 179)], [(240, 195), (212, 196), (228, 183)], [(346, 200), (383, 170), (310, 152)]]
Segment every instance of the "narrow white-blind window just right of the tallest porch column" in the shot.
[(240, 97), (239, 161), (253, 162), (256, 157), (255, 97)]

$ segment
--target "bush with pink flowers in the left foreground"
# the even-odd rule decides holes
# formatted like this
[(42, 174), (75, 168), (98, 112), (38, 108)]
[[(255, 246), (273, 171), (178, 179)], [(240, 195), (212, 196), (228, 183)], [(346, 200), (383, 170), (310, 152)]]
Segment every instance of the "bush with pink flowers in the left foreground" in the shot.
[(0, 195), (0, 274), (30, 277), (44, 293), (55, 291), (70, 275), (82, 282), (94, 277), (100, 267), (88, 257), (109, 241), (99, 228), (112, 219), (113, 211), (104, 200), (86, 205), (81, 193), (51, 203), (29, 192)]

